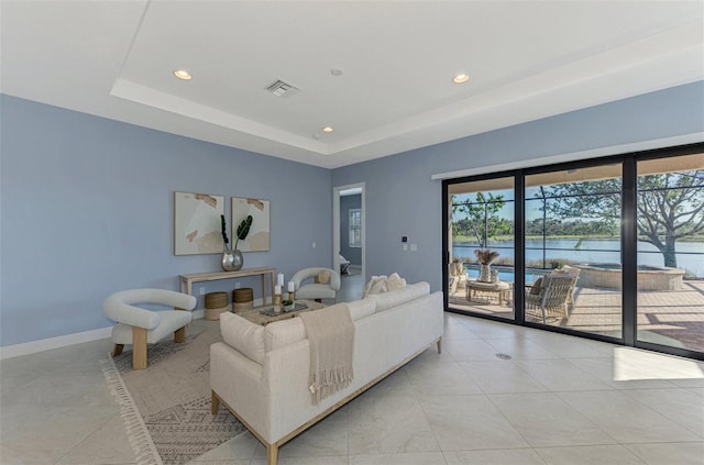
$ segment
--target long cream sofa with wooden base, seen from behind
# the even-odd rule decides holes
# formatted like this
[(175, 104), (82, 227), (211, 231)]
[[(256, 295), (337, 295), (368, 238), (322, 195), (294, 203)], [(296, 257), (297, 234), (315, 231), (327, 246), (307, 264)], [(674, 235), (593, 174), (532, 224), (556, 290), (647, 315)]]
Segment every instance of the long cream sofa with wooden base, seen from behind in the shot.
[[(278, 447), (432, 343), (441, 350), (442, 292), (427, 283), (408, 285), (349, 303), (354, 322), (354, 380), (315, 405), (308, 389), (310, 350), (299, 318), (260, 326), (222, 313), (223, 342), (210, 347), (212, 413), (224, 406), (266, 446)], [(318, 311), (326, 311), (324, 309)]]

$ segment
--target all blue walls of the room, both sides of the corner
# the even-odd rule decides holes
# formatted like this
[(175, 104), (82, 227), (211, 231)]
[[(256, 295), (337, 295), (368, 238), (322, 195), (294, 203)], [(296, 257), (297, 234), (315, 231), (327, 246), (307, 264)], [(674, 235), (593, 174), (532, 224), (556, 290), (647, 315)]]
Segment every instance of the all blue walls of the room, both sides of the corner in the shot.
[[(432, 174), (704, 131), (704, 82), (334, 170), (8, 96), (0, 110), (4, 346), (108, 326), (100, 306), (109, 294), (178, 289), (179, 274), (219, 269), (218, 255), (173, 255), (176, 190), (271, 200), (271, 252), (245, 254), (245, 266), (289, 277), (330, 266), (332, 187), (364, 182), (366, 275), (398, 272), (440, 290), (441, 182)], [(403, 252), (403, 235), (418, 252)]]

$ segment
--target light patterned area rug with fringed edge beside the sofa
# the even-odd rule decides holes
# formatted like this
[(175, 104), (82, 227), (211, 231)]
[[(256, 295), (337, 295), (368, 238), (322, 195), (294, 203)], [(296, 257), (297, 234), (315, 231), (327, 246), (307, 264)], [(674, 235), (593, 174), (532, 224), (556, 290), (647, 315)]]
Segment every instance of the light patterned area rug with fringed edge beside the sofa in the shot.
[(223, 408), (210, 413), (209, 351), (221, 340), (219, 321), (196, 320), (184, 344), (151, 344), (146, 369), (132, 369), (131, 351), (108, 355), (103, 372), (139, 464), (185, 464), (245, 431)]

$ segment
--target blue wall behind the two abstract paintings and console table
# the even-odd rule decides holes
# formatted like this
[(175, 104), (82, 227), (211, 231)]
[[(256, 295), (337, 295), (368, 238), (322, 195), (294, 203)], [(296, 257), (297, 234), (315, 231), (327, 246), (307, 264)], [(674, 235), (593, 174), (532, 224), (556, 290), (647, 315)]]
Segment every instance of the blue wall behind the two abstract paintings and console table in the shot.
[(271, 201), (271, 251), (245, 253), (245, 267), (289, 278), (331, 266), (328, 169), (9, 96), (0, 106), (2, 346), (109, 326), (109, 294), (220, 269), (219, 255), (174, 255), (177, 190), (224, 196), (226, 218), (230, 197)]

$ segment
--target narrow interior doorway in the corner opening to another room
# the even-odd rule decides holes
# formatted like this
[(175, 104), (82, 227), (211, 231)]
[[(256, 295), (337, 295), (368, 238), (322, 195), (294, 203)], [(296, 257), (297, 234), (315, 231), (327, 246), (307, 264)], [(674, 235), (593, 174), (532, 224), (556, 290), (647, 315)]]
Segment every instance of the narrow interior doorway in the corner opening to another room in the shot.
[(364, 182), (333, 188), (332, 264), (340, 272), (340, 301), (355, 300), (364, 290)]

